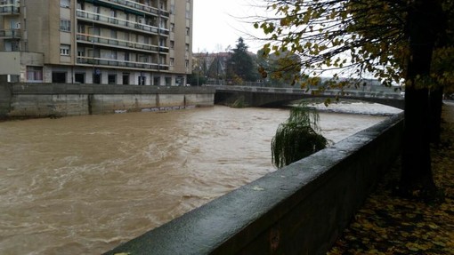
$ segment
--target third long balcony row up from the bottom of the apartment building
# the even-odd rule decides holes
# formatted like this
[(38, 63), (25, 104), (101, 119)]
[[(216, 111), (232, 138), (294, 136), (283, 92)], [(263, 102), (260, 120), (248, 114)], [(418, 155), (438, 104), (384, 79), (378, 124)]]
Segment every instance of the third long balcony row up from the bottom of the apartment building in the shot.
[(77, 10), (78, 20), (85, 20), (96, 24), (103, 24), (108, 26), (115, 26), (118, 28), (133, 28), (136, 31), (145, 32), (153, 35), (168, 36), (169, 30), (166, 28), (158, 28), (140, 22), (131, 20), (122, 20), (116, 17), (109, 17), (106, 15), (98, 14), (95, 12), (87, 12), (84, 10)]

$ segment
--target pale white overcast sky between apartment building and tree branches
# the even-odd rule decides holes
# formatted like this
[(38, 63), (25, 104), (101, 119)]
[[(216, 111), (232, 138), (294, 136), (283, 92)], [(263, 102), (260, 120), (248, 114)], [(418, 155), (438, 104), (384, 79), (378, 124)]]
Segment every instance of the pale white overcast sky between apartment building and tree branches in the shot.
[(259, 30), (241, 21), (260, 13), (251, 1), (256, 0), (194, 0), (192, 52), (224, 52), (228, 46), (235, 48), (240, 36), (249, 51), (261, 48), (261, 43), (247, 36), (259, 36)]

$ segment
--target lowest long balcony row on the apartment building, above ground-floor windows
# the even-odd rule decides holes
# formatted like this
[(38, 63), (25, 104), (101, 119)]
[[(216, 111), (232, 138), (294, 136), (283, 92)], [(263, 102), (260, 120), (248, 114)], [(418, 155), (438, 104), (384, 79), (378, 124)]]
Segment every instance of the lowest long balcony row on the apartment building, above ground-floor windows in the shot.
[(77, 57), (77, 64), (89, 67), (104, 67), (104, 68), (129, 68), (140, 70), (153, 70), (153, 71), (167, 71), (168, 65), (161, 65), (157, 63), (148, 62), (135, 62), (126, 60), (111, 60), (93, 57)]

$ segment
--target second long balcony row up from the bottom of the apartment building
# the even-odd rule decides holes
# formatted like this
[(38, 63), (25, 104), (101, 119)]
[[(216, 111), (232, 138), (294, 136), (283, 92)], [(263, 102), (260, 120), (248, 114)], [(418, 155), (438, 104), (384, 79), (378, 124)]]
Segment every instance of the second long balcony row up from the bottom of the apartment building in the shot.
[(142, 52), (161, 52), (161, 53), (169, 52), (169, 48), (165, 47), (165, 46), (142, 44), (142, 43), (121, 40), (121, 39), (117, 39), (117, 38), (93, 36), (93, 35), (82, 34), (82, 33), (77, 33), (77, 41), (79, 43), (101, 44), (101, 45), (107, 45), (107, 46), (112, 46), (112, 47), (116, 47), (116, 48), (122, 47), (125, 49), (142, 51)]

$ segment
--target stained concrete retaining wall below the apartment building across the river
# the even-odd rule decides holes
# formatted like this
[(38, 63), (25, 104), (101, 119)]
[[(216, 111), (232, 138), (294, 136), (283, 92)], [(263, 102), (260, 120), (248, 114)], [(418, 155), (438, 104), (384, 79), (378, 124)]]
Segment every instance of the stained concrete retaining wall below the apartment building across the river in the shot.
[(80, 116), (214, 106), (215, 89), (101, 84), (0, 84), (0, 118)]

